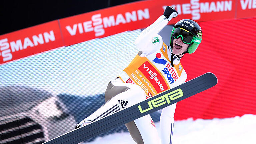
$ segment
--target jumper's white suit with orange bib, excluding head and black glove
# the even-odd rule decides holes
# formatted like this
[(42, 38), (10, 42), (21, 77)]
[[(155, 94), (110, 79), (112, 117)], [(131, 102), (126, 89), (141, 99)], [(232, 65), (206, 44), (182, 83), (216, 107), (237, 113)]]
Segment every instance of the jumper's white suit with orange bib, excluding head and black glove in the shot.
[[(185, 82), (187, 74), (180, 59), (174, 56), (174, 66), (171, 66), (171, 49), (157, 34), (168, 22), (162, 15), (141, 32), (135, 40), (139, 53), (118, 78), (108, 84), (107, 102), (83, 121), (97, 121)], [(170, 144), (175, 108), (173, 104), (162, 109), (160, 136), (150, 115), (125, 125), (137, 144)], [(105, 113), (108, 115), (103, 115)]]

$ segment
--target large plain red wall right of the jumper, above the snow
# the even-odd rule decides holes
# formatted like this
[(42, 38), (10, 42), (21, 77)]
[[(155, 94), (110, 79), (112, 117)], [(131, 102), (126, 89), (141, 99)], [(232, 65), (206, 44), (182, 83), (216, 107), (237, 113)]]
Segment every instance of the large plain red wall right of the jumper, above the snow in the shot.
[[(185, 55), (181, 63), (187, 80), (212, 72), (218, 83), (178, 102), (176, 120), (256, 114), (255, 22), (256, 18), (199, 23), (203, 40), (196, 52)], [(240, 36), (241, 33), (246, 36)]]

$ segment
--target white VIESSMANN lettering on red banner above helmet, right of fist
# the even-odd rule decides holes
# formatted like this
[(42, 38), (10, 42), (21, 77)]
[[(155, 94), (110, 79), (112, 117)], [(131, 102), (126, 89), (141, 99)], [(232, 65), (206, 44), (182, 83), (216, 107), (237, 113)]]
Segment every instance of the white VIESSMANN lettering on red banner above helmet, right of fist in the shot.
[[(171, 6), (177, 10), (179, 15), (191, 14), (191, 19), (199, 20), (202, 13), (231, 11), (232, 0), (217, 2), (200, 2), (200, 0), (191, 0), (190, 3), (174, 4)], [(163, 6), (162, 8), (165, 9), (166, 6)]]

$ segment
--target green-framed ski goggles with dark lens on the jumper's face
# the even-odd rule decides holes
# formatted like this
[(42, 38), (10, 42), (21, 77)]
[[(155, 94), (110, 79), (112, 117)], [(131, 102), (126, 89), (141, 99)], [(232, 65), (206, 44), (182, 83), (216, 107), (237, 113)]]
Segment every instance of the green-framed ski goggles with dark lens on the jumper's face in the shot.
[(172, 30), (172, 35), (173, 38), (177, 39), (179, 37), (181, 37), (182, 41), (185, 44), (191, 44), (192, 42), (200, 44), (201, 43), (201, 39), (196, 38), (191, 32), (183, 29), (183, 28), (173, 28)]

